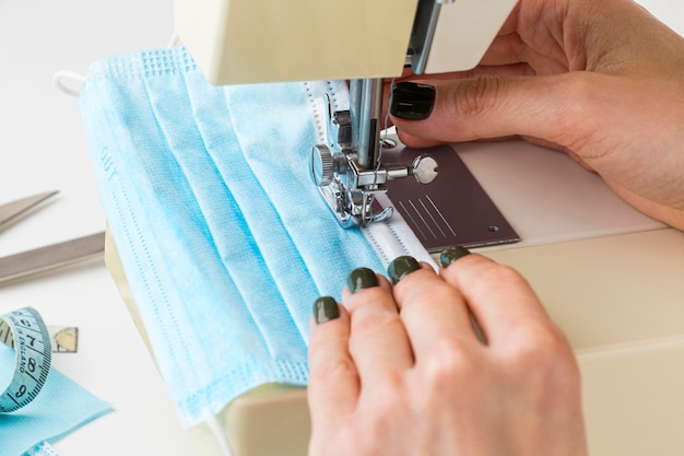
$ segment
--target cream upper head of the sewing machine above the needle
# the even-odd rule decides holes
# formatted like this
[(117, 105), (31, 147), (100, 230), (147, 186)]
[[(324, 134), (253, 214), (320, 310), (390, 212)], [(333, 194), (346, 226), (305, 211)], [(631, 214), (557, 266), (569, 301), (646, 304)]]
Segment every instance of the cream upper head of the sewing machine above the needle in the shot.
[(408, 55), (417, 73), (467, 70), (516, 2), (174, 0), (174, 13), (208, 80), (240, 84), (399, 77)]

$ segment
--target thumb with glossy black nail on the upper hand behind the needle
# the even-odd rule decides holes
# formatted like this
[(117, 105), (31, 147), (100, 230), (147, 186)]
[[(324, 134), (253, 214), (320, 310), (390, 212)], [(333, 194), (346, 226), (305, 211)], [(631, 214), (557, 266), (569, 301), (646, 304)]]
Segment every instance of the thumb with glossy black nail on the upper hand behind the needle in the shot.
[(411, 147), (522, 136), (571, 149), (589, 133), (582, 125), (590, 122), (581, 121), (585, 102), (591, 104), (585, 74), (402, 82), (390, 114)]

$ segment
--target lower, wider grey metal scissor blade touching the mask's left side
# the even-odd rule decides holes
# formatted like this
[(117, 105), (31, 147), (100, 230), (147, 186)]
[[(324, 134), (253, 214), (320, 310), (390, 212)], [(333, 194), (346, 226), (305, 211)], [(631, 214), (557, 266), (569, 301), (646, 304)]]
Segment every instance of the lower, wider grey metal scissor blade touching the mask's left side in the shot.
[(0, 258), (0, 284), (93, 258), (104, 249), (105, 233), (101, 232)]

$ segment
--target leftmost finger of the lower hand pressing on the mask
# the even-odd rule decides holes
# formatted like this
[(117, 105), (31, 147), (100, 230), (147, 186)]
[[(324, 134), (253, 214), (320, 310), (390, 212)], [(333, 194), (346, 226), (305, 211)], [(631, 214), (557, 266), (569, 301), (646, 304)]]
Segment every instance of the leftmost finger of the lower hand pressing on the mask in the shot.
[(344, 307), (332, 304), (339, 317), (311, 323), (307, 396), (315, 422), (354, 410), (359, 391), (358, 373), (349, 352), (350, 316)]

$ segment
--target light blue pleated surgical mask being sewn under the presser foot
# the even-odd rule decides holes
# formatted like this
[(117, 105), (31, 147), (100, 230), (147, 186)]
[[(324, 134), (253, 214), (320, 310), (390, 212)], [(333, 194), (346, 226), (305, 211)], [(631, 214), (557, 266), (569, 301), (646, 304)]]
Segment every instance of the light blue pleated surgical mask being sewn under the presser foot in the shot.
[(103, 207), (186, 426), (259, 385), (306, 385), (311, 305), (354, 268), (431, 260), (400, 218), (335, 221), (309, 176), (323, 94), (349, 106), (341, 81), (210, 85), (182, 47), (89, 70)]

